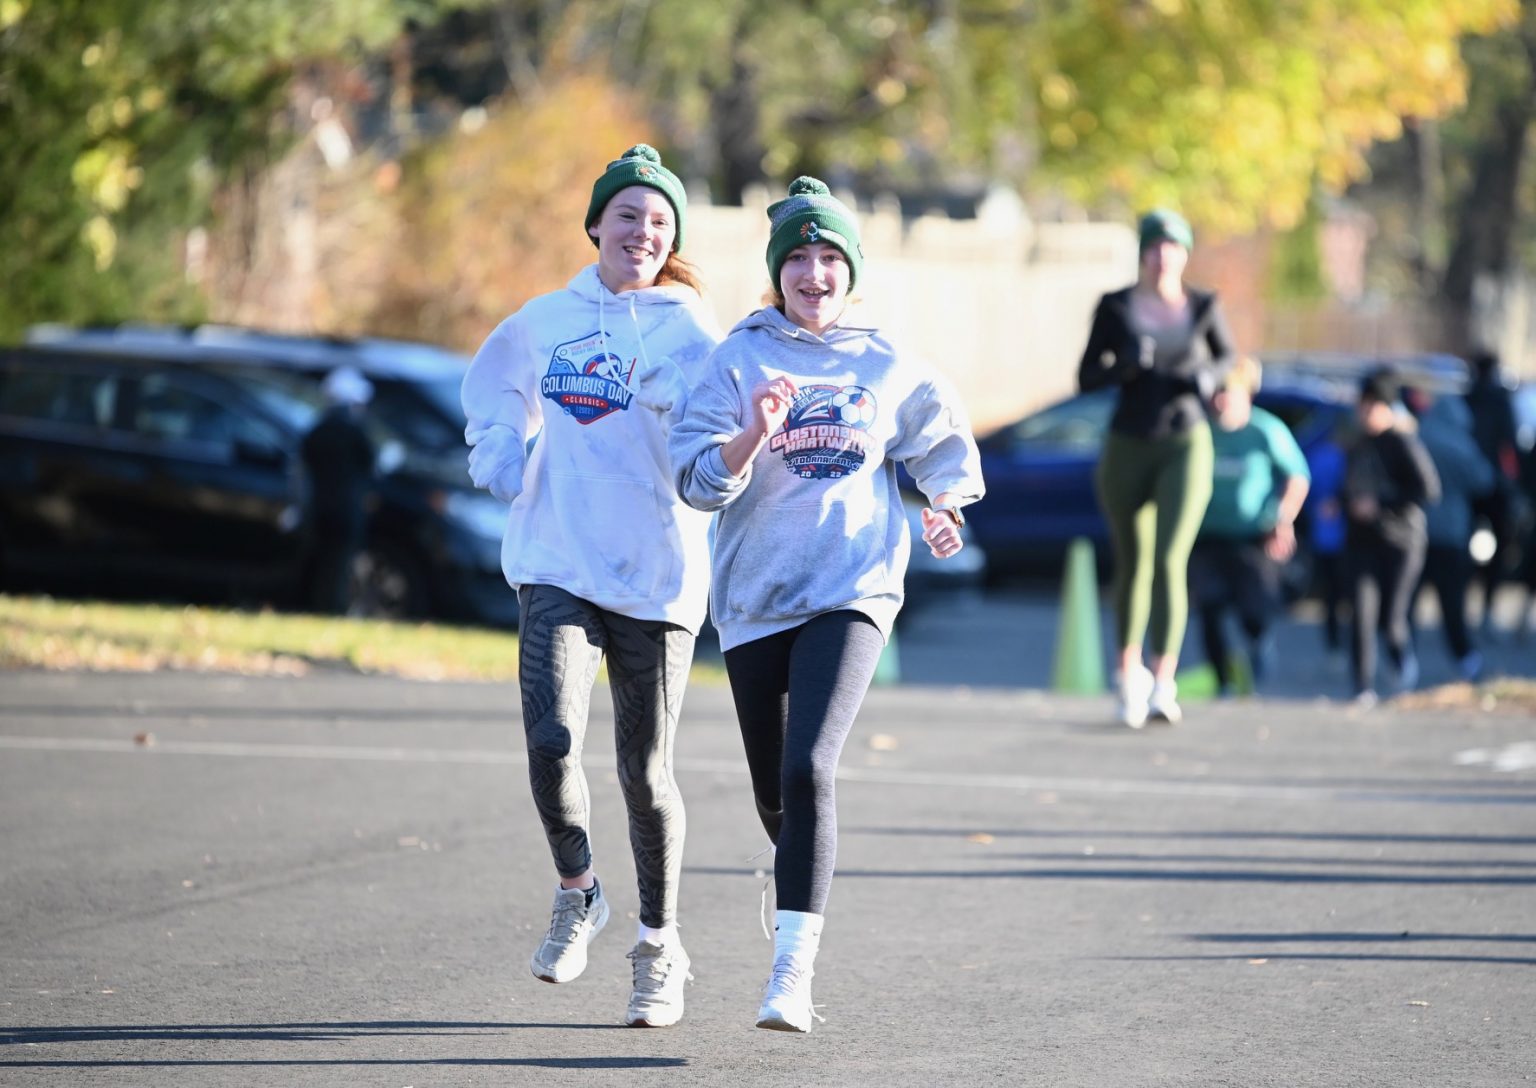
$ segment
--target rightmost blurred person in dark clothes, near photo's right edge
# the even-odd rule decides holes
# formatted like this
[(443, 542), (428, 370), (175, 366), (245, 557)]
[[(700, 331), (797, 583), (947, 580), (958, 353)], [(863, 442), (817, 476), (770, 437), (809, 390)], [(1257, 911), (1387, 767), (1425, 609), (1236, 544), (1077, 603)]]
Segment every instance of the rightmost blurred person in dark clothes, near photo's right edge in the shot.
[(1519, 486), (1514, 398), (1504, 383), (1499, 357), (1487, 350), (1478, 352), (1471, 357), (1470, 370), (1471, 384), (1465, 400), (1471, 409), (1471, 429), (1478, 449), (1496, 475), (1493, 490), (1473, 501), (1473, 518), (1488, 522), (1495, 541), (1493, 558), (1478, 570), (1482, 585), (1482, 632), (1491, 635), (1498, 589), (1514, 573), (1511, 556), (1519, 544), (1524, 496)]

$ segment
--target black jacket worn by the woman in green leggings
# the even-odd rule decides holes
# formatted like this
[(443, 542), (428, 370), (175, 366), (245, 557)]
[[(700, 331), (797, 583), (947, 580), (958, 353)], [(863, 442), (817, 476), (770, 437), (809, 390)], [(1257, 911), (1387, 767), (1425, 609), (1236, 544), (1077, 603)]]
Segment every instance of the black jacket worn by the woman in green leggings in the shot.
[(1135, 438), (1167, 438), (1206, 420), (1206, 403), (1235, 358), (1215, 292), (1189, 289), (1193, 315), (1187, 338), (1174, 352), (1143, 352), (1130, 324), (1132, 287), (1098, 300), (1087, 347), (1077, 367), (1078, 389), (1120, 386), (1111, 430)]

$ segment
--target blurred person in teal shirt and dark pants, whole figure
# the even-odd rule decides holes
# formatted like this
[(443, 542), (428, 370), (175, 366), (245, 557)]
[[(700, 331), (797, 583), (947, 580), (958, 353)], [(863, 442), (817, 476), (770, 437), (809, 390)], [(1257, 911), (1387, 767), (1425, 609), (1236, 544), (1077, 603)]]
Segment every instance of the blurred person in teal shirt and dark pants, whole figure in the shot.
[(1260, 380), (1258, 361), (1244, 355), (1213, 398), (1210, 506), (1189, 564), (1189, 587), (1218, 695), (1230, 695), (1233, 685), (1229, 610), (1247, 636), (1253, 684), (1269, 672), (1281, 569), (1296, 553), (1296, 516), (1312, 478), (1290, 427), (1253, 406)]

